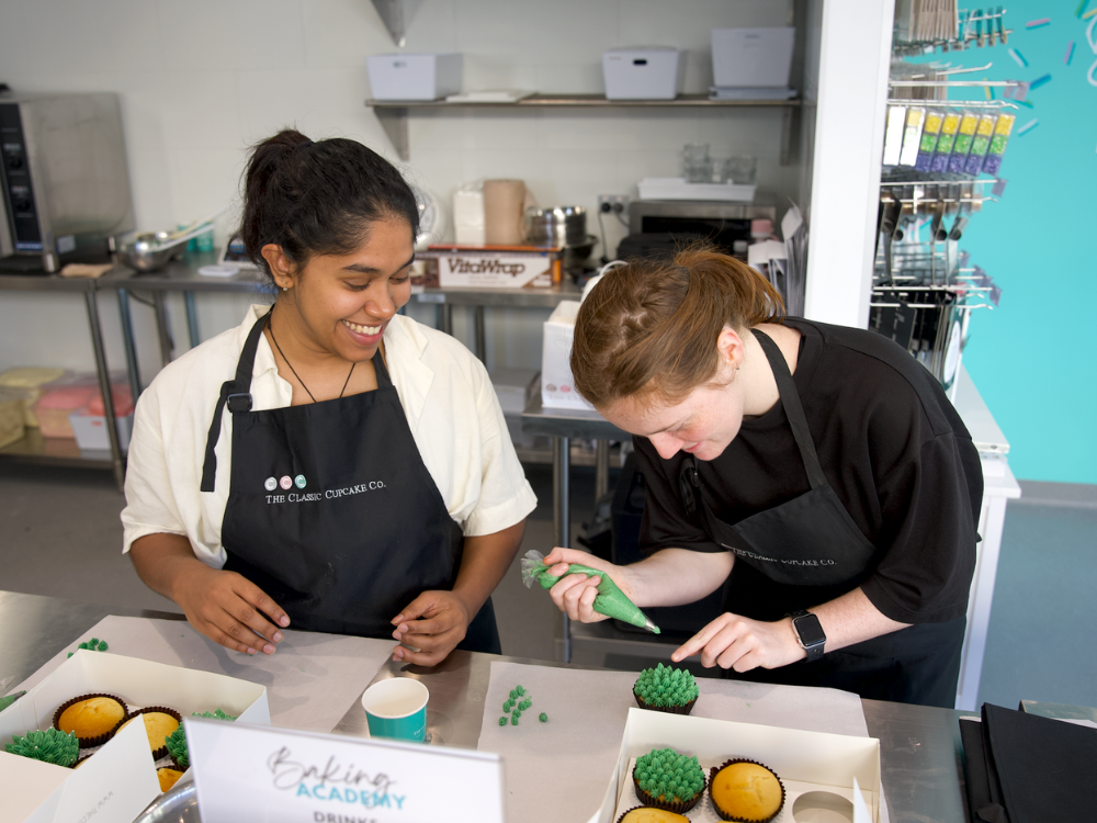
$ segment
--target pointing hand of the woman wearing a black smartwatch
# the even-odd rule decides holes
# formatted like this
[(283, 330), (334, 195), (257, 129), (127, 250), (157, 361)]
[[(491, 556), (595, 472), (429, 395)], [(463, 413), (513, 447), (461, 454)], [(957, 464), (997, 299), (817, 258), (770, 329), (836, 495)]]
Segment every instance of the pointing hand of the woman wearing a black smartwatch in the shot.
[(670, 659), (680, 663), (698, 652), (705, 668), (720, 666), (736, 672), (778, 668), (805, 656), (796, 641), (792, 619), (776, 623), (724, 613), (675, 650)]

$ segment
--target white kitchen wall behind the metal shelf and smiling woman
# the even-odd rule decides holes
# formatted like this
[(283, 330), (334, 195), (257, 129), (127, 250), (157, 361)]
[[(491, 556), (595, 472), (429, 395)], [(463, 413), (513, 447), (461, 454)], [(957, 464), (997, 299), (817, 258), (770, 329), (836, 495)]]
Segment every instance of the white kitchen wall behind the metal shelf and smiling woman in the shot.
[[(599, 93), (604, 49), (672, 45), (689, 52), (686, 90), (702, 92), (711, 83), (711, 29), (788, 25), (791, 8), (791, 0), (423, 0), (404, 50), (464, 54), (465, 90)], [(365, 56), (394, 50), (369, 0), (0, 2), (0, 81), (15, 91), (121, 95), (142, 229), (189, 222), (235, 199), (247, 146), (285, 125), (314, 139), (360, 139), (396, 161), (362, 104)], [(759, 183), (783, 203), (795, 196), (800, 170), (779, 166), (780, 127), (780, 110), (419, 112), (407, 173), (445, 202), (464, 181), (518, 177), (544, 205), (593, 214), (599, 193), (634, 195), (642, 177), (679, 173), (683, 143), (706, 142), (714, 154), (756, 155)], [(218, 239), (229, 227), (226, 218)], [(613, 250), (624, 229), (615, 219), (606, 228)], [(597, 234), (593, 217), (588, 229)], [(234, 325), (240, 303), (200, 295), (203, 336)], [(177, 353), (186, 348), (181, 306), (172, 295)], [(103, 311), (109, 356), (121, 367), (113, 300)], [(159, 360), (151, 313), (134, 312), (148, 380)], [(489, 365), (536, 367), (544, 315), (491, 314)], [(455, 315), (461, 335), (465, 322)], [(415, 316), (432, 322), (433, 311)], [(75, 298), (0, 293), (0, 368), (90, 368), (86, 328)]]

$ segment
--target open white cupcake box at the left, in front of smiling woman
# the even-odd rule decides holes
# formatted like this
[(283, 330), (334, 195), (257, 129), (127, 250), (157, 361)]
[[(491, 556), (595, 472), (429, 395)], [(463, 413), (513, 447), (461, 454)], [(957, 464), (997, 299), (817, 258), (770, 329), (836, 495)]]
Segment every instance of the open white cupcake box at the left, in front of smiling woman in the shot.
[(219, 708), (245, 722), (271, 722), (263, 686), (80, 650), (0, 713), (0, 823), (132, 823), (160, 793), (143, 723), (128, 724), (79, 769), (3, 751), (12, 735), (49, 729), (57, 707), (90, 694), (114, 695), (131, 710), (167, 706), (186, 718)]

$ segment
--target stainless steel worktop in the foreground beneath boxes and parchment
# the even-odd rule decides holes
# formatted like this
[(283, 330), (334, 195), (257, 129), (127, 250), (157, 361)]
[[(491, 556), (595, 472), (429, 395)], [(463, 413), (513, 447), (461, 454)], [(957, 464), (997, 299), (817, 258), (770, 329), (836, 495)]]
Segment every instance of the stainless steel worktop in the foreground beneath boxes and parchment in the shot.
[[(30, 677), (43, 664), (109, 615), (182, 619), (180, 615), (120, 609), (36, 595), (0, 591), (0, 694)], [(446, 745), (475, 748), (493, 661), (566, 667), (559, 663), (454, 652), (433, 668), (388, 662), (373, 683), (397, 675), (421, 679), (430, 689), (428, 729), (445, 729)], [(338, 675), (332, 675), (336, 677)], [(318, 698), (323, 699), (318, 691)], [(966, 821), (960, 766), (960, 712), (862, 700), (869, 734), (880, 740), (881, 777), (892, 823)], [(358, 701), (332, 730), (364, 735)], [(581, 745), (581, 741), (577, 741)], [(551, 764), (545, 765), (551, 780)], [(593, 810), (591, 810), (591, 813)]]

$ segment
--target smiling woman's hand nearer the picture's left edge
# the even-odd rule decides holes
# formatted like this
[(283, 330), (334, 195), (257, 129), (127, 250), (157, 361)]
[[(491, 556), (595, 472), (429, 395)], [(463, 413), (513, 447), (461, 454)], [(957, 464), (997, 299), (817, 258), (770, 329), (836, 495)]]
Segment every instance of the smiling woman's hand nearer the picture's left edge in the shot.
[(290, 624), (282, 608), (247, 577), (201, 561), (181, 571), (172, 594), (191, 625), (234, 652), (274, 654), (282, 632), (265, 618), (283, 628)]

